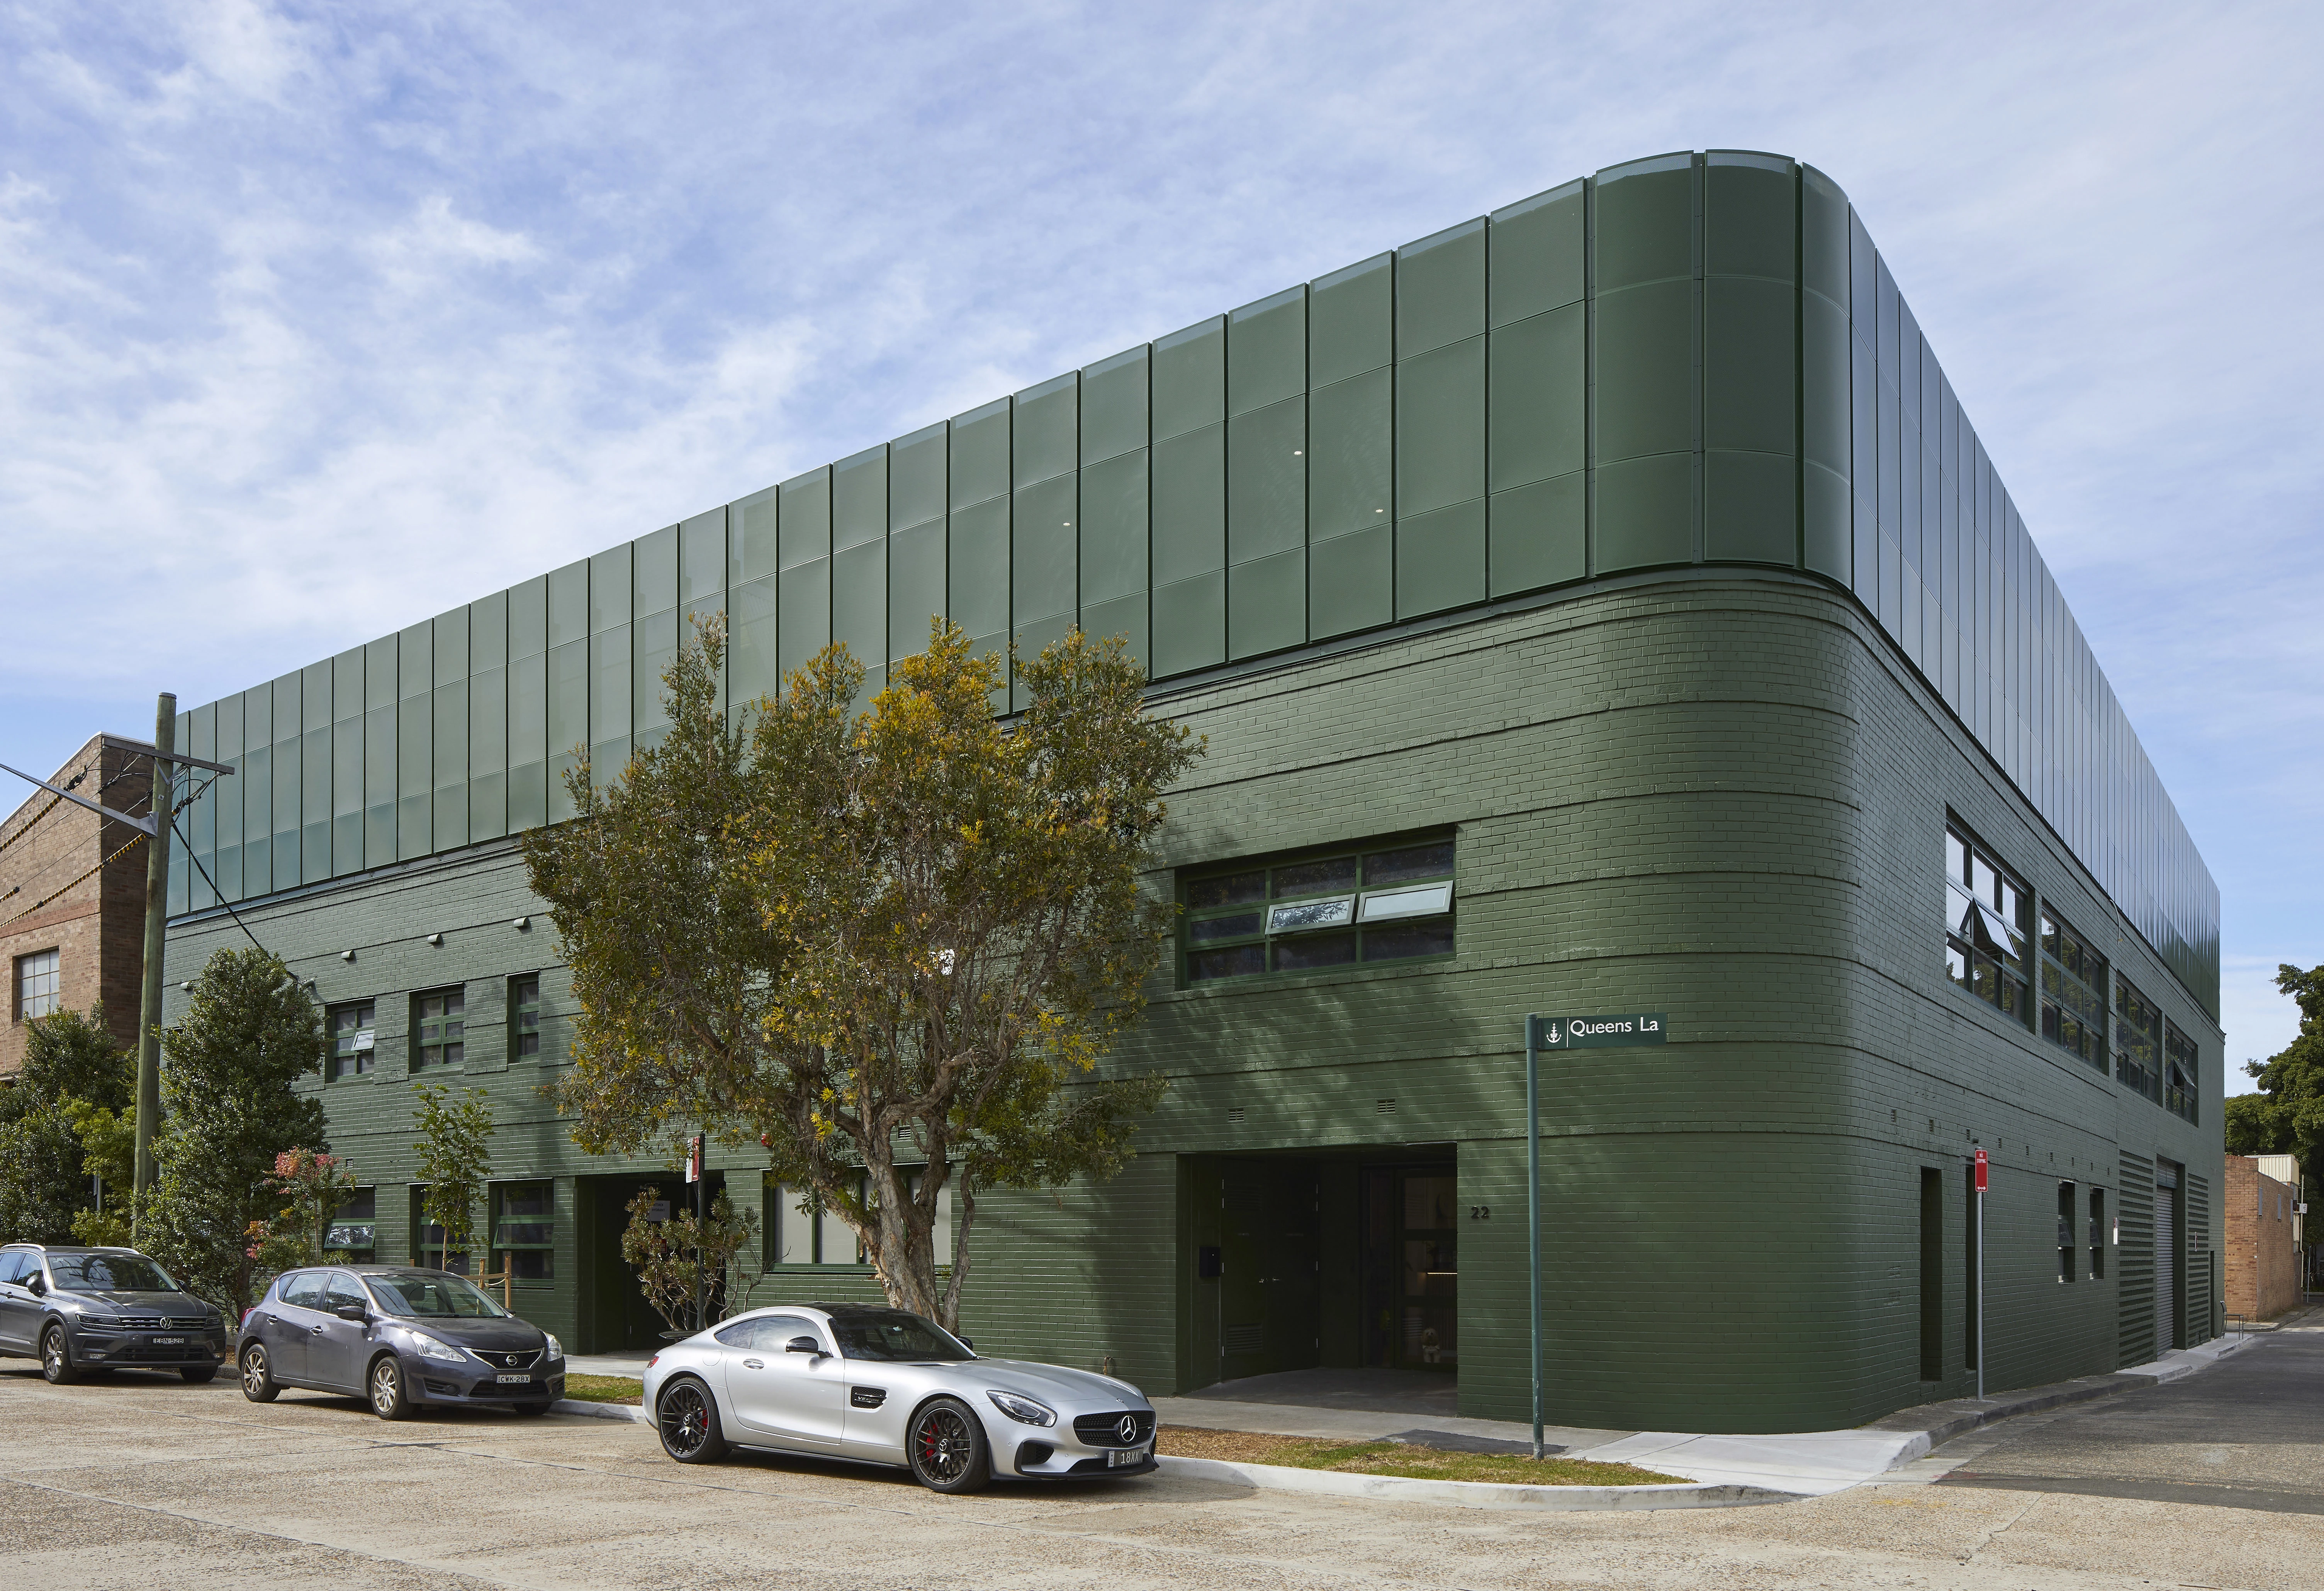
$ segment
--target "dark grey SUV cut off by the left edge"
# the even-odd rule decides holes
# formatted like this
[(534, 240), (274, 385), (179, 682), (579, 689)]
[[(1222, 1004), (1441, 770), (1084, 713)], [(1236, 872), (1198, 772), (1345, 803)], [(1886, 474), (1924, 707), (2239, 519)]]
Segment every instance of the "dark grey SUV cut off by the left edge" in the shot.
[(137, 1250), (0, 1247), (0, 1354), (40, 1356), (53, 1384), (86, 1370), (177, 1370), (207, 1382), (225, 1319)]

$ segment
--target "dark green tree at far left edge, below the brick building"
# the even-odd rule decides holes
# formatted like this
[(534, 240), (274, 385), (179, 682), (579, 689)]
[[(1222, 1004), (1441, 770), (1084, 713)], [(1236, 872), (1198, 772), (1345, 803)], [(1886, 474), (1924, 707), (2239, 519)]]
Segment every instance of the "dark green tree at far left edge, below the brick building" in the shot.
[[(100, 1166), (79, 1120), (121, 1110), (132, 1080), (130, 1054), (105, 1029), (102, 1006), (26, 1024), (16, 1085), (0, 1089), (0, 1240), (72, 1243), (88, 1224)], [(125, 1208), (128, 1185), (119, 1192)]]

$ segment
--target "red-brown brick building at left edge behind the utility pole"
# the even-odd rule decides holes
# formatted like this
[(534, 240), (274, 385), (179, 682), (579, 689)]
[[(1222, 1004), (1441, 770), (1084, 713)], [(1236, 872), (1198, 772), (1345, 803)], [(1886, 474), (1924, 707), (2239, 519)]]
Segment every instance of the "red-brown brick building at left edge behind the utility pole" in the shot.
[[(93, 736), (56, 773), (79, 797), (142, 815), (151, 787), (151, 746)], [(0, 1029), (0, 1078), (23, 1066), (23, 1024), (51, 1010), (105, 1003), (105, 1024), (123, 1048), (137, 1041), (144, 971), (144, 836), (128, 825), (30, 790), (0, 822), (0, 964), (9, 980), (9, 1022)]]

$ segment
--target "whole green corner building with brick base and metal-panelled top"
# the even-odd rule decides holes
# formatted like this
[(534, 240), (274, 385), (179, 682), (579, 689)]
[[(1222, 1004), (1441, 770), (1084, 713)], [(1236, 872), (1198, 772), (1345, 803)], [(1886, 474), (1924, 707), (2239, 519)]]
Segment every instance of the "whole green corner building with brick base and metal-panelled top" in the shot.
[[(1522, 1419), (1522, 1024), (1620, 1010), (1669, 1043), (1543, 1073), (1552, 1419), (1966, 1391), (1980, 1147), (1992, 1387), (2217, 1331), (2217, 887), (1813, 167), (1611, 167), (186, 713), (239, 773), (172, 994), (225, 904), (314, 978), (379, 1259), (423, 1240), (411, 1078), (490, 1089), (490, 1264), (581, 1349), (651, 1338), (616, 1233), (674, 1180), (541, 1099), (572, 994), (514, 836), (579, 746), (660, 732), (713, 611), (734, 713), (946, 613), (1125, 634), (1208, 736), (1116, 1057), (1171, 1089), (1116, 1182), (981, 1203), (988, 1352), (1432, 1368)], [(767, 1212), (762, 1303), (874, 1291), (713, 1168)]]

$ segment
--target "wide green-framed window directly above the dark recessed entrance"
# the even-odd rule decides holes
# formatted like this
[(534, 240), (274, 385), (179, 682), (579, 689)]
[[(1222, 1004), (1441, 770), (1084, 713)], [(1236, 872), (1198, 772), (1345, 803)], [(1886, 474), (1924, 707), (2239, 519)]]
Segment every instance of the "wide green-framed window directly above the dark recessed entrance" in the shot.
[(1452, 955), (1452, 836), (1178, 873), (1183, 982)]

